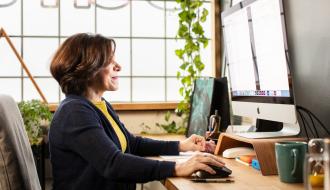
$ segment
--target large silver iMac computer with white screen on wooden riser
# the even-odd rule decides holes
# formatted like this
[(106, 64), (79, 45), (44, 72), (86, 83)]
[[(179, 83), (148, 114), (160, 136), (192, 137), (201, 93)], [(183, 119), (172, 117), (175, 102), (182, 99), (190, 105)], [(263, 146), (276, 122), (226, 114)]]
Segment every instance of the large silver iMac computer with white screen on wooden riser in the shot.
[(237, 135), (298, 135), (282, 0), (245, 0), (221, 17), (233, 114), (257, 121)]

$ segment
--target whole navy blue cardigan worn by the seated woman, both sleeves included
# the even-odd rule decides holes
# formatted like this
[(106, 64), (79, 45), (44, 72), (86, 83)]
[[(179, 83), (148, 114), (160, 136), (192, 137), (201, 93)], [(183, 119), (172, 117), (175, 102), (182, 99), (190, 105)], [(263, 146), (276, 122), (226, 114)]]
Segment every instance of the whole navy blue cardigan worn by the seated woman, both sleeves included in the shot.
[(141, 156), (178, 154), (178, 142), (136, 137), (108, 102), (107, 108), (125, 134), (125, 153), (107, 118), (87, 99), (69, 95), (59, 105), (49, 131), (54, 190), (135, 190), (135, 183), (173, 176), (174, 162)]

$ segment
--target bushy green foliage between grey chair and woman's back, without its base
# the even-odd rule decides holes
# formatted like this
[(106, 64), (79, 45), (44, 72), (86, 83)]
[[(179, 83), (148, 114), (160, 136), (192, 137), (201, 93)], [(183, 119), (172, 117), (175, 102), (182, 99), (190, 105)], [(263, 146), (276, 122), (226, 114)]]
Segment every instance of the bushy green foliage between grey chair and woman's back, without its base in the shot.
[(18, 108), (22, 114), (31, 145), (40, 144), (43, 137), (42, 125), (49, 123), (52, 119), (48, 105), (39, 100), (31, 100), (18, 103)]

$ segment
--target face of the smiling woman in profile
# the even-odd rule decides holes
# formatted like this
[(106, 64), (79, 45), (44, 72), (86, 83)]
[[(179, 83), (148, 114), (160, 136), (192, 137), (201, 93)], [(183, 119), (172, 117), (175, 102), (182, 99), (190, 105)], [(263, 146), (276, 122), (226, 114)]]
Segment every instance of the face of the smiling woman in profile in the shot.
[(115, 58), (111, 63), (100, 71), (101, 85), (100, 88), (103, 91), (116, 91), (119, 87), (118, 72), (121, 70), (121, 66), (115, 61)]

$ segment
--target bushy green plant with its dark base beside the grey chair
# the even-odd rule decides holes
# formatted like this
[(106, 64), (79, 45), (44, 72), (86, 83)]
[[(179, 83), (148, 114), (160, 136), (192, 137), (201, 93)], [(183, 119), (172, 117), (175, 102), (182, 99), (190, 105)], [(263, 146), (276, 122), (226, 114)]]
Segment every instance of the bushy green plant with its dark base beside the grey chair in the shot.
[(43, 137), (48, 131), (52, 113), (48, 105), (39, 100), (22, 101), (18, 103), (18, 108), (22, 114), (25, 130), (31, 144), (40, 184), (42, 189), (45, 189), (45, 143)]

